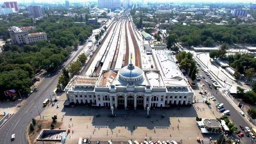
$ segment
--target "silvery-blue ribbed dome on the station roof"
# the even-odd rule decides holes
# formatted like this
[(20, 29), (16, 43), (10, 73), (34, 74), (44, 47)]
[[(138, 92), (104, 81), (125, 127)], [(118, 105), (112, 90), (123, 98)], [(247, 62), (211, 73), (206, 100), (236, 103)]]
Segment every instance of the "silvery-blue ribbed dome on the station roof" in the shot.
[(133, 64), (123, 67), (118, 73), (118, 79), (124, 83), (134, 82), (137, 84), (144, 80), (144, 72)]

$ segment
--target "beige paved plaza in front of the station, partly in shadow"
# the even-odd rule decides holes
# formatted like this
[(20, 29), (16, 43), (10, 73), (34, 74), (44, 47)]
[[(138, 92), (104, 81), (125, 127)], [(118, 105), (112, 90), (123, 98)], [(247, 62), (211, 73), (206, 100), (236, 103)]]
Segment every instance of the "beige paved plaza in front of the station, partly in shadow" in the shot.
[[(182, 140), (185, 144), (195, 144), (198, 137), (212, 137), (214, 140), (218, 134), (200, 133), (196, 126), (196, 116), (216, 118), (216, 116), (220, 117), (220, 114), (216, 111), (213, 102), (214, 108), (203, 104), (204, 96), (198, 95), (196, 99), (198, 103), (193, 106), (153, 109), (150, 111), (151, 118), (144, 117), (146, 110), (114, 110), (114, 114), (118, 116), (110, 118), (108, 117), (111, 114), (110, 109), (88, 108), (83, 105), (64, 108), (64, 100), (58, 101), (59, 108), (56, 108), (57, 103), (54, 106), (46, 106), (41, 116), (52, 120), (51, 117), (57, 114), (57, 121), (63, 122), (61, 129), (70, 128), (67, 144), (78, 142), (80, 137), (100, 141), (144, 141), (147, 136), (148, 141), (151, 137), (152, 141)], [(101, 116), (96, 117), (96, 114)], [(164, 118), (161, 118), (162, 114), (165, 114)]]

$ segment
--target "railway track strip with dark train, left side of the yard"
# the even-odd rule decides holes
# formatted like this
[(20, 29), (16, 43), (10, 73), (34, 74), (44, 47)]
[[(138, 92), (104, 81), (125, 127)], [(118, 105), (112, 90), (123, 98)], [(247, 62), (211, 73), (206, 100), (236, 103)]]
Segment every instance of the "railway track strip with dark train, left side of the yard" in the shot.
[[(114, 32), (112, 33), (111, 38), (110, 38), (110, 41), (108, 42), (108, 46), (106, 47), (106, 50), (104, 51), (104, 54), (103, 54), (102, 58), (100, 59), (100, 62), (97, 62), (96, 66), (95, 66), (95, 69), (94, 69), (94, 72), (93, 72), (92, 75), (97, 75), (97, 74), (100, 73), (100, 70), (101, 70), (101, 68), (102, 68), (102, 66), (103, 66), (103, 64), (104, 64), (104, 62), (105, 62), (105, 60), (106, 60), (106, 57), (107, 57), (107, 55), (108, 55), (108, 51), (110, 50), (110, 46), (111, 46), (111, 44), (112, 44), (112, 42), (113, 42), (114, 36), (115, 36), (115, 34), (116, 34), (116, 30), (117, 30), (118, 25), (120, 24), (120, 22), (121, 22), (121, 21), (118, 21), (117, 24), (115, 25), (115, 27), (114, 27)], [(104, 43), (104, 42), (102, 42), (102, 44), (103, 44), (103, 43)]]

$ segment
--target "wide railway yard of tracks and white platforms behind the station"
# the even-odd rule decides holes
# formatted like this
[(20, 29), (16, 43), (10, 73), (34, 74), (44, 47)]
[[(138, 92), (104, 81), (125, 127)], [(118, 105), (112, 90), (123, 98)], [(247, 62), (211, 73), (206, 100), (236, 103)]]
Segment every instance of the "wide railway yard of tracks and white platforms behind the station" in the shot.
[[(134, 30), (135, 28), (129, 19), (113, 21), (106, 34), (102, 36), (100, 46), (87, 62), (87, 67), (84, 68), (82, 74), (96, 77), (103, 70), (119, 70), (130, 62), (143, 68), (143, 63), (150, 62), (152, 58), (145, 56), (142, 39)], [(149, 60), (142, 60), (142, 58)]]

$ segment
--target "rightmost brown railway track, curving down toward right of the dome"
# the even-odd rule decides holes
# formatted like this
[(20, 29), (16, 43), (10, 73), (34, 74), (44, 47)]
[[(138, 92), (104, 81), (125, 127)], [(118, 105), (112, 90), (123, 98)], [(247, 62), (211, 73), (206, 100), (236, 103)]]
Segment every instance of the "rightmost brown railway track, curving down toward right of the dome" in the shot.
[(135, 65), (138, 66), (139, 68), (142, 68), (141, 66), (141, 58), (140, 58), (140, 48), (138, 46), (137, 40), (134, 36), (134, 33), (132, 31), (131, 23), (129, 22), (128, 24), (129, 32), (132, 37), (132, 44), (134, 46), (134, 52), (135, 52)]

